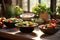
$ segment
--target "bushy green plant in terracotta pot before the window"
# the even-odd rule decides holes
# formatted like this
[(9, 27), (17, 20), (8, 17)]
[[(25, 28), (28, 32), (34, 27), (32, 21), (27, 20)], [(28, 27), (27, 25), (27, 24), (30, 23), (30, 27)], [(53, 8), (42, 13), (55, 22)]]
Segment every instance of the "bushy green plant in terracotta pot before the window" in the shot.
[[(38, 15), (38, 17), (48, 20), (51, 15), (51, 9), (47, 8), (45, 4), (38, 4), (32, 9), (32, 12)], [(46, 18), (47, 17), (47, 18)]]

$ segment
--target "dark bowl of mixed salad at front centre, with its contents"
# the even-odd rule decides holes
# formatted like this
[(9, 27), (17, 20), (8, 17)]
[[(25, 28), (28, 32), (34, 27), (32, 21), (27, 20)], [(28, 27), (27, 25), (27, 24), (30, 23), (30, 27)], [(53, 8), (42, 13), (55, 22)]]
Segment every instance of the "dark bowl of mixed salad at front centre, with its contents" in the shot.
[(38, 24), (31, 21), (23, 21), (16, 23), (15, 26), (23, 33), (31, 33)]

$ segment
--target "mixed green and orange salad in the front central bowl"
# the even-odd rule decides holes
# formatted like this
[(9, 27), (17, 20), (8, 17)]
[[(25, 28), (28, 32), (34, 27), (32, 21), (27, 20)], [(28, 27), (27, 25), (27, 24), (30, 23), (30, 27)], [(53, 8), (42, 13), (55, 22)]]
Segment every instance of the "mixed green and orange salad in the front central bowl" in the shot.
[(37, 23), (31, 21), (23, 21), (16, 24), (16, 26), (18, 27), (36, 27), (37, 25), (38, 25)]

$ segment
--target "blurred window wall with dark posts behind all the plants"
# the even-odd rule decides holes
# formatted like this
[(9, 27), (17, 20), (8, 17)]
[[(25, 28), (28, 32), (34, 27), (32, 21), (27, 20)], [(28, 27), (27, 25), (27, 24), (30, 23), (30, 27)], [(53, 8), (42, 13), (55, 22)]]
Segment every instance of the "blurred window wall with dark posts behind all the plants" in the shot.
[(50, 7), (51, 11), (56, 13), (56, 9), (60, 5), (60, 0), (0, 0), (0, 16), (8, 17), (5, 11), (9, 5), (13, 7), (19, 5), (25, 12), (32, 12), (32, 8), (39, 3), (45, 3), (46, 7)]

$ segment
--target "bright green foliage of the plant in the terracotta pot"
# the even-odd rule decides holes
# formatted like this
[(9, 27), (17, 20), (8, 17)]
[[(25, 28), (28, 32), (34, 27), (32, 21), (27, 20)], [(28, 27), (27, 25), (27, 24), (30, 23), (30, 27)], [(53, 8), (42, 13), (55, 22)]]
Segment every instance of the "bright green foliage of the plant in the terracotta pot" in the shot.
[(35, 13), (36, 15), (39, 15), (41, 12), (48, 12), (51, 14), (51, 9), (47, 8), (45, 4), (38, 4), (36, 7), (32, 9), (32, 12)]

